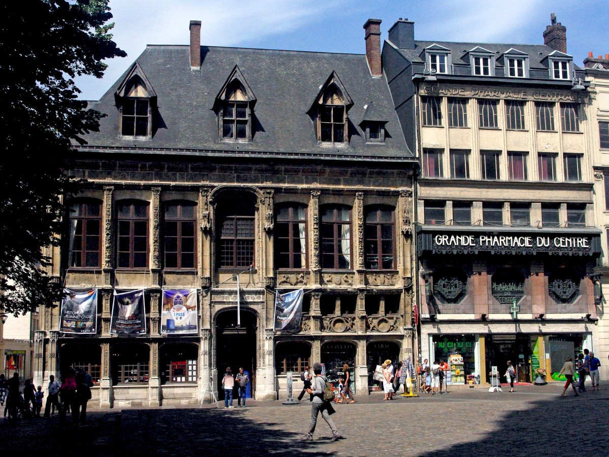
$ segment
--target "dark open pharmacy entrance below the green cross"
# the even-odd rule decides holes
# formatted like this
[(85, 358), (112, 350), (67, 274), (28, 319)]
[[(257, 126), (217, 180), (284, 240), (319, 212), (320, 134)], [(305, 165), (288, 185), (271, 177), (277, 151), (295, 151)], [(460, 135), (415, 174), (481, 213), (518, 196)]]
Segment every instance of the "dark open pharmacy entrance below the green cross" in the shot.
[(502, 383), (509, 382), (505, 377), (507, 361), (516, 368), (516, 382), (531, 382), (530, 360), (532, 354), (531, 335), (491, 335), (486, 337), (487, 373), (496, 366)]

